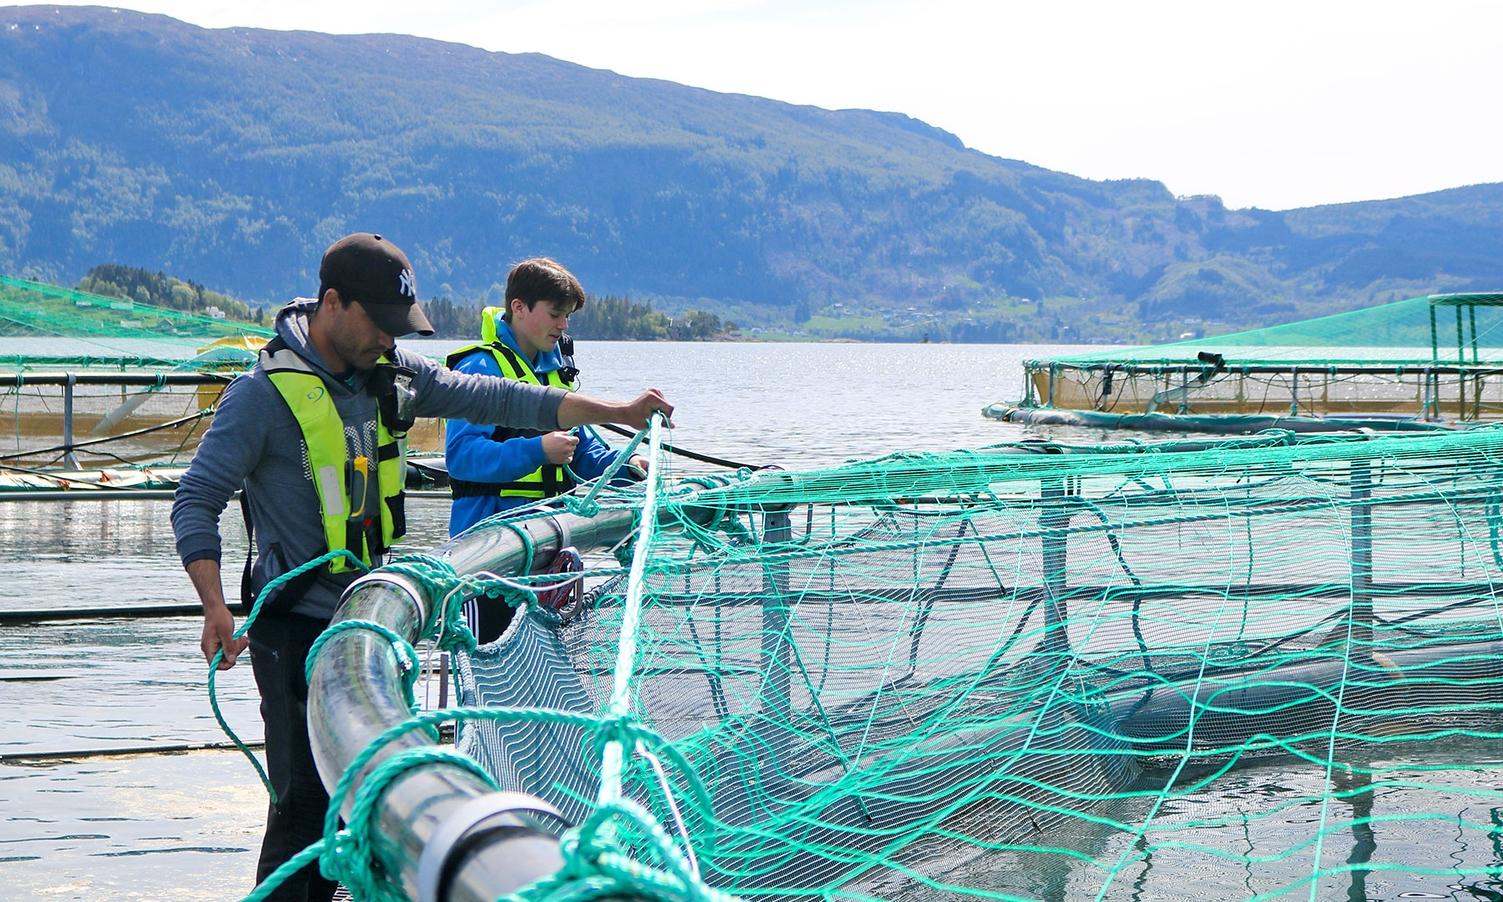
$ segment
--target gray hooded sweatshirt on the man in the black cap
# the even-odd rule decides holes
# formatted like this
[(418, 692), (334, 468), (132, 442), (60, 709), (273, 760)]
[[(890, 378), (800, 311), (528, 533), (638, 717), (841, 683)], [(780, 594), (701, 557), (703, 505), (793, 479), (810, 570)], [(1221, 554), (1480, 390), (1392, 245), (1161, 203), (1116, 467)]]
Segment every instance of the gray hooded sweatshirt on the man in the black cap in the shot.
[[(368, 373), (334, 376), (308, 343), (308, 317), (319, 302), (299, 298), (277, 314), (277, 334), (323, 376), (329, 397), (344, 421), (346, 454), (376, 460), (376, 398), (365, 391)], [(556, 430), (558, 407), (565, 392), (491, 376), (470, 376), (439, 367), (419, 355), (397, 349), (394, 361), (416, 371), (418, 416), (454, 416), (470, 422), (493, 422), (519, 428)], [(249, 591), (259, 594), (272, 579), (328, 552), (323, 516), (313, 486), (308, 446), (298, 419), (257, 365), (236, 377), (219, 398), (213, 424), (204, 434), (173, 499), (173, 534), (183, 565), (219, 559), (219, 514), (245, 487), (257, 556)], [(283, 610), (329, 619), (344, 588), (358, 573), (317, 579)], [(233, 574), (225, 574), (233, 582)], [(234, 586), (228, 595), (233, 598)], [(287, 601), (293, 601), (287, 598)], [(268, 601), (272, 604), (272, 601)]]

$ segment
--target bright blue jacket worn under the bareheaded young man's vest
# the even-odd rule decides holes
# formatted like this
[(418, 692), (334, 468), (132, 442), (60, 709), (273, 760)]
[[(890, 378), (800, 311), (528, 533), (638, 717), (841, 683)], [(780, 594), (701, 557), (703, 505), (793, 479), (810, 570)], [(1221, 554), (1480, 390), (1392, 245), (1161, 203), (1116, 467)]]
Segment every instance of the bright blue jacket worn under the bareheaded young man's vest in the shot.
[[(522, 355), (508, 323), (496, 322), (496, 337)], [(546, 350), (529, 364), (534, 373), (543, 376), (562, 367), (564, 361), (559, 359), (558, 350)], [(496, 358), (482, 349), (466, 355), (454, 365), (454, 370), (500, 376)], [(497, 442), (490, 437), (494, 430), (493, 425), (481, 425), (467, 419), (449, 419), (445, 424), (443, 462), (451, 478), (472, 483), (511, 483), (547, 463), (541, 436)], [(616, 451), (601, 442), (592, 430), (580, 428), (576, 434), (579, 434), (579, 446), (574, 448), (574, 463), (570, 465), (570, 469), (579, 478), (594, 480), (616, 462)], [(522, 507), (529, 501), (528, 498), (504, 498), (500, 495), (455, 498), (454, 507), (449, 508), (449, 535), (458, 535), (491, 514)]]

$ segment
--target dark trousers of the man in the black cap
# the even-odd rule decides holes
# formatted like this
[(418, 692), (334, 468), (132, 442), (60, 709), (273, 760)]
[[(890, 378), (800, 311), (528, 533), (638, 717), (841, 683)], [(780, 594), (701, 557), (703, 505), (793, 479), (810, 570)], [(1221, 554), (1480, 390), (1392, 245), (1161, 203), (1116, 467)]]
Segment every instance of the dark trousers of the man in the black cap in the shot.
[[(262, 882), (289, 858), (323, 836), (329, 794), (308, 746), (308, 681), (304, 663), (328, 624), (292, 613), (262, 613), (251, 627), (251, 669), (266, 722), (266, 776), (277, 801), (266, 812), (266, 836), (256, 866)], [(275, 902), (328, 902), (334, 882), (314, 861), (268, 896)]]

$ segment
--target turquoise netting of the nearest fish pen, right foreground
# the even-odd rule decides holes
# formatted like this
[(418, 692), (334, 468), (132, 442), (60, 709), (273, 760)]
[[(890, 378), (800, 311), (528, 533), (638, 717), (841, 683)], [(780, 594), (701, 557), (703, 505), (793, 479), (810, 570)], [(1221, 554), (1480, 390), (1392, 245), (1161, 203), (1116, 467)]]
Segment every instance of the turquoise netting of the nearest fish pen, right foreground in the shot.
[[(618, 746), (619, 792), (709, 887), (1503, 888), (1503, 428), (655, 468), (660, 501), (607, 504), (654, 525), (621, 550), (640, 598), (525, 607), (460, 657), (460, 702), (660, 737)], [(562, 720), (460, 744), (576, 822), (618, 791)]]

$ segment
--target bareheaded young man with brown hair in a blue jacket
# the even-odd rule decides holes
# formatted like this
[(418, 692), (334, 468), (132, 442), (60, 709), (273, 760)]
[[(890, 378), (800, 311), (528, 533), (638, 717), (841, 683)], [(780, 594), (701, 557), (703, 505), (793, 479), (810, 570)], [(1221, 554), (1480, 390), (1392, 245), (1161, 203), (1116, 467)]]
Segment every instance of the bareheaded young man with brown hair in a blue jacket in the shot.
[[(481, 341), (448, 356), (458, 373), (504, 376), (531, 385), (574, 391), (579, 370), (559, 352), (568, 317), (585, 307), (585, 289), (568, 269), (547, 257), (523, 260), (507, 275), (507, 305), (481, 311)], [(491, 514), (562, 495), (582, 480), (603, 475), (618, 451), (589, 430), (534, 430), (449, 419), (443, 460), (449, 471), (449, 535)], [(634, 456), (633, 466), (646, 460)], [(475, 622), (476, 637), (500, 634), (511, 610), (487, 604)]]

